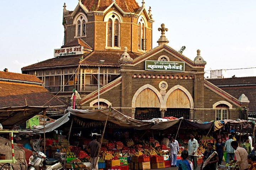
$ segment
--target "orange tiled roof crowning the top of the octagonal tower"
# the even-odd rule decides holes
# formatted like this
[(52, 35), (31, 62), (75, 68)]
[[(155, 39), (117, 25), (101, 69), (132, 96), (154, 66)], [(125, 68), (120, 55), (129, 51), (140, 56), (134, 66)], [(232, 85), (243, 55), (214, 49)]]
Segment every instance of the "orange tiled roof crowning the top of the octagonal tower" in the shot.
[[(104, 11), (112, 4), (112, 0), (81, 0), (82, 4), (86, 6), (89, 11)], [(136, 12), (139, 4), (136, 0), (116, 0), (116, 4), (124, 12)]]

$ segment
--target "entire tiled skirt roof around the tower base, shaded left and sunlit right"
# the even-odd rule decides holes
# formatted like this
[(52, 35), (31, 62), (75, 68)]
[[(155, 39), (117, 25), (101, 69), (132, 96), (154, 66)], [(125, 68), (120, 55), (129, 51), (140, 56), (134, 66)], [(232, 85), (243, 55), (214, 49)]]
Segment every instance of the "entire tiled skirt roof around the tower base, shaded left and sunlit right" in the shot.
[[(133, 59), (140, 56), (140, 54), (134, 53), (134, 52), (128, 52), (130, 57)], [(121, 55), (123, 54), (122, 51), (116, 52), (116, 51), (94, 51), (94, 52), (88, 52), (84, 54), (84, 60), (81, 62), (81, 64), (86, 65), (98, 65), (98, 62), (100, 60), (105, 60), (103, 65), (106, 66), (119, 66), (118, 60), (121, 58)], [(46, 67), (69, 67), (69, 66), (75, 66), (78, 65), (80, 61), (81, 55), (76, 56), (69, 56), (69, 57), (54, 57), (36, 64), (32, 64), (30, 66), (26, 66), (21, 68), (22, 70), (31, 70), (31, 69), (41, 69)]]

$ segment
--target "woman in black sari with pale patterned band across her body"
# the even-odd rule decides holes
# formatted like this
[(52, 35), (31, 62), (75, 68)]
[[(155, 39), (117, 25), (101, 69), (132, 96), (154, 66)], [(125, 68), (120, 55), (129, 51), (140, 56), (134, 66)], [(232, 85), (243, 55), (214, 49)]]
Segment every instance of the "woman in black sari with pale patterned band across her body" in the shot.
[(219, 161), (218, 153), (213, 149), (213, 143), (207, 144), (207, 151), (204, 152), (204, 162), (200, 170), (216, 170)]

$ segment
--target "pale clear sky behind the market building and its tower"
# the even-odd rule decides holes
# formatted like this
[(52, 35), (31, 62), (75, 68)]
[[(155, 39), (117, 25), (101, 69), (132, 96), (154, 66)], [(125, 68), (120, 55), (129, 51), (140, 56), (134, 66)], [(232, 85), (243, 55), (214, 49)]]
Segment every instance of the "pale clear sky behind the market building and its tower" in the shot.
[[(63, 4), (73, 11), (78, 0), (1, 0), (0, 70), (21, 73), (21, 68), (53, 58), (62, 46)], [(137, 0), (142, 5), (142, 0)], [(223, 70), (225, 78), (256, 76), (255, 0), (145, 0), (152, 10), (153, 48), (168, 28), (169, 46), (194, 60), (197, 50), (210, 70)], [(250, 68), (250, 69), (244, 69)]]

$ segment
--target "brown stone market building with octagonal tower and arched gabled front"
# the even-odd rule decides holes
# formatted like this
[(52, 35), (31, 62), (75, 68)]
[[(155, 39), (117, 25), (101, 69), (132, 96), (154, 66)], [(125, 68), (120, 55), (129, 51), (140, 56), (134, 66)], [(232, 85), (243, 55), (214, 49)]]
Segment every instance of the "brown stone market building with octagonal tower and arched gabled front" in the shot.
[(74, 11), (64, 4), (64, 45), (54, 58), (23, 67), (22, 73), (36, 74), (61, 98), (69, 99), (75, 84), (80, 109), (97, 109), (99, 101), (100, 108), (111, 106), (140, 120), (244, 119), (249, 101), (204, 79), (200, 50), (191, 60), (172, 49), (164, 24), (159, 46), (152, 49), (153, 22), (144, 0), (141, 6), (135, 0), (80, 0)]

